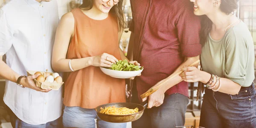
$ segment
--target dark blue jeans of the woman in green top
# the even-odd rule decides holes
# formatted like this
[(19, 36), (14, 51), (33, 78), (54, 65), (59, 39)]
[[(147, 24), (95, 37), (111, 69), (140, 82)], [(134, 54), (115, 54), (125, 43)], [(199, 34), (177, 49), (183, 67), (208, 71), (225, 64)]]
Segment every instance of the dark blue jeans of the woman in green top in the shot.
[(205, 128), (256, 128), (256, 90), (241, 87), (236, 95), (206, 89), (200, 126)]

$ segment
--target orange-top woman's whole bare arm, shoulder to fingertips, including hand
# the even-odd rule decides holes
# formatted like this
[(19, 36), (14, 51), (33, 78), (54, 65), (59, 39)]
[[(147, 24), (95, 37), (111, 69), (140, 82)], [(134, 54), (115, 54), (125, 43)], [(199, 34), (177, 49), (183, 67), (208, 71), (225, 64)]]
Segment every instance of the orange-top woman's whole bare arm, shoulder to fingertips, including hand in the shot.
[[(52, 50), (52, 68), (56, 72), (70, 72), (69, 61), (66, 59), (70, 38), (74, 33), (74, 17), (71, 12), (63, 15), (58, 25), (55, 42)], [(108, 60), (106, 60), (106, 58)], [(72, 59), (73, 70), (80, 70), (88, 66), (111, 67), (112, 63), (118, 61), (113, 55), (103, 53), (99, 56)]]

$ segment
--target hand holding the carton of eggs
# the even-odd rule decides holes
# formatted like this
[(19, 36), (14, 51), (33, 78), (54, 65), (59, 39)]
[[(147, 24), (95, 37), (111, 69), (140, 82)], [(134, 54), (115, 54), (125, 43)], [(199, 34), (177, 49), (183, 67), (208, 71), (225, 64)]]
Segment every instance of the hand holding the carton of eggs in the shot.
[(31, 88), (33, 90), (40, 91), (40, 92), (43, 92), (43, 93), (48, 93), (51, 89), (42, 89), (42, 88), (37, 87), (35, 85), (35, 82), (33, 81), (33, 79), (36, 79), (38, 76), (39, 75), (37, 74), (37, 75), (28, 76), (27, 78), (22, 78), (20, 80), (20, 83), (24, 87), (28, 87), (28, 88)]

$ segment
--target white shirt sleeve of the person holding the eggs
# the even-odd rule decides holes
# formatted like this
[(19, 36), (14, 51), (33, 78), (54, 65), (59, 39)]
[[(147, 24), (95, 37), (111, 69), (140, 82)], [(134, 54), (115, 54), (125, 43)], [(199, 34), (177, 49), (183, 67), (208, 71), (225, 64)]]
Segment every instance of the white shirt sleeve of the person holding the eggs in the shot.
[(0, 55), (4, 55), (12, 47), (12, 35), (6, 14), (0, 10)]

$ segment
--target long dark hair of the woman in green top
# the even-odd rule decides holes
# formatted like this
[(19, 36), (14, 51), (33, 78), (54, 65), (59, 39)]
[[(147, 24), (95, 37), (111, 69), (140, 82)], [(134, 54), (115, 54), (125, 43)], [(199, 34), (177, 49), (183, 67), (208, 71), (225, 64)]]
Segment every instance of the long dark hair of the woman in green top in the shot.
[[(234, 13), (238, 8), (238, 0), (221, 0), (220, 10), (227, 15)], [(206, 16), (201, 17), (201, 32), (200, 32), (200, 43), (204, 46), (207, 41), (209, 32), (212, 30), (212, 21)]]

